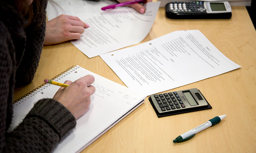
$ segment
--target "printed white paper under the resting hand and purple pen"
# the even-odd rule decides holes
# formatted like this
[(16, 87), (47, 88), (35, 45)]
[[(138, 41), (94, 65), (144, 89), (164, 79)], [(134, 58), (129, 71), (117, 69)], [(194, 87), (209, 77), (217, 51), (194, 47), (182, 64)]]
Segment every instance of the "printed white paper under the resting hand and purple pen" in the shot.
[[(96, 3), (95, 6), (88, 4), (89, 2), (87, 1), (86, 4), (84, 4), (84, 1), (81, 2), (79, 0), (78, 2), (83, 7), (92, 7), (92, 10), (96, 8), (100, 10), (101, 6), (107, 5), (105, 4), (107, 1)], [(63, 13), (78, 16), (90, 26), (89, 28), (85, 28), (79, 40), (71, 41), (77, 49), (90, 58), (140, 43), (146, 37), (154, 23), (160, 2), (148, 2), (144, 4), (146, 8), (144, 14), (140, 14), (128, 6), (117, 7), (109, 11), (100, 10), (98, 12), (83, 13), (81, 9), (75, 10), (76, 7), (83, 8), (76, 6), (79, 4), (75, 3), (75, 1), (64, 1), (63, 4), (60, 2), (58, 4), (61, 7), (57, 7), (58, 5), (56, 4), (53, 5), (56, 8), (51, 6), (52, 4), (48, 7), (48, 4), (48, 19), (61, 14), (61, 10), (65, 10), (66, 13), (65, 11)], [(54, 10), (57, 10), (57, 13), (54, 13)], [(51, 16), (52, 14), (54, 15)]]

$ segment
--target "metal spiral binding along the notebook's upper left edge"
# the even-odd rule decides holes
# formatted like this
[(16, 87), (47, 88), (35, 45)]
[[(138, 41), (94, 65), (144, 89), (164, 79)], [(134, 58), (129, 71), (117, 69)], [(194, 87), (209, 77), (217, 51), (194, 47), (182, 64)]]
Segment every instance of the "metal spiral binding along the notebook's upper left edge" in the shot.
[[(61, 72), (60, 74), (56, 75), (55, 77), (53, 77), (51, 80), (54, 80), (54, 81), (58, 81), (60, 80), (60, 78), (63, 78), (65, 77), (66, 75), (70, 74), (70, 72), (73, 72), (75, 71), (77, 68), (79, 68), (79, 66), (71, 66), (70, 68), (66, 69), (65, 71)], [(16, 99), (15, 101), (13, 101), (13, 104), (15, 106), (17, 106), (17, 104), (20, 104), (20, 102), (24, 102), (26, 101), (27, 99), (29, 99), (30, 97), (34, 96), (35, 94), (43, 94), (43, 92), (41, 92), (43, 89), (45, 89), (46, 87), (48, 86), (51, 86), (51, 84), (47, 84), (47, 83), (43, 83), (42, 85), (38, 86), (37, 88), (29, 91), (27, 94), (25, 94), (24, 96)]]

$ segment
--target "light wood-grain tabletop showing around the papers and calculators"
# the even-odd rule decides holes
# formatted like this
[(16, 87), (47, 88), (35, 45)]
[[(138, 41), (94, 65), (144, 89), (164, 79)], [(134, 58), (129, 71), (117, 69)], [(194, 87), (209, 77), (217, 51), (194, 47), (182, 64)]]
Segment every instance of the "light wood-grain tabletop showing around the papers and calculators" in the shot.
[[(152, 29), (141, 43), (176, 30), (200, 30), (225, 56), (241, 68), (169, 91), (198, 88), (212, 109), (158, 118), (148, 101), (97, 139), (83, 152), (256, 152), (256, 31), (244, 6), (232, 7), (231, 19), (174, 20), (159, 8)], [(139, 44), (141, 44), (139, 43)], [(124, 83), (99, 57), (88, 58), (70, 42), (45, 46), (35, 78), (15, 89), (17, 99), (46, 78), (72, 65)], [(209, 119), (226, 114), (219, 124), (188, 141), (177, 136)]]

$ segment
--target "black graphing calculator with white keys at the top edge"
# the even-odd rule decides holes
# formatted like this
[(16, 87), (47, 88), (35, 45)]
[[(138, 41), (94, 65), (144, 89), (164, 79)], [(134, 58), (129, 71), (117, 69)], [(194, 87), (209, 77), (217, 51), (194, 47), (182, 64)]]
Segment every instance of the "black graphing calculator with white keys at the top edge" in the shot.
[(166, 4), (165, 11), (171, 19), (229, 19), (232, 16), (228, 1), (171, 2)]

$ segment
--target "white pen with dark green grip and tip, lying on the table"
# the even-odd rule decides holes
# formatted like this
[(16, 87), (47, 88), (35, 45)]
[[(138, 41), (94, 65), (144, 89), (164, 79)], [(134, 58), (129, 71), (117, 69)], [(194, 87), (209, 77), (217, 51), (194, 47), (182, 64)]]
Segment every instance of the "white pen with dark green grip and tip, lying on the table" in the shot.
[(193, 138), (198, 132), (201, 132), (217, 123), (222, 121), (227, 115), (221, 115), (221, 116), (216, 116), (213, 119), (210, 119), (208, 122), (203, 123), (202, 125), (197, 126), (196, 128), (178, 136), (173, 142), (184, 142), (187, 141), (191, 138)]

